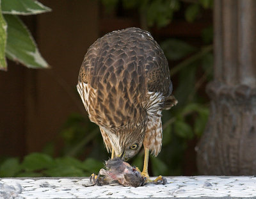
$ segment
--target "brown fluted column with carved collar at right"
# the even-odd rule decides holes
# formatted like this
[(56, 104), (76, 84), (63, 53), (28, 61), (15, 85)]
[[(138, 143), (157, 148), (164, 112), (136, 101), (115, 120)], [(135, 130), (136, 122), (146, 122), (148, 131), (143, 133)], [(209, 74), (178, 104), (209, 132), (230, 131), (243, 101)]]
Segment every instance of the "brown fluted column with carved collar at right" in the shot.
[(256, 1), (214, 1), (211, 115), (197, 150), (203, 175), (256, 173)]

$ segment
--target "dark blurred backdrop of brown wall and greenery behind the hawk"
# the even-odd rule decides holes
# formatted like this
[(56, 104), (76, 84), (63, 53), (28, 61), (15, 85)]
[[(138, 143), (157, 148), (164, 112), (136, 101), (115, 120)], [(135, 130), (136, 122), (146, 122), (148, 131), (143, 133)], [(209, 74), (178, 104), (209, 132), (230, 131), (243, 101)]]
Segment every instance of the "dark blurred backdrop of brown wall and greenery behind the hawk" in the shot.
[[(77, 93), (88, 47), (110, 31), (150, 31), (169, 61), (179, 104), (163, 111), (163, 147), (150, 175), (196, 175), (195, 147), (209, 115), (213, 0), (40, 0), (52, 9), (21, 16), (51, 68), (8, 60), (0, 71), (0, 177), (88, 176), (103, 167), (99, 127)], [(131, 163), (142, 168), (143, 151)]]

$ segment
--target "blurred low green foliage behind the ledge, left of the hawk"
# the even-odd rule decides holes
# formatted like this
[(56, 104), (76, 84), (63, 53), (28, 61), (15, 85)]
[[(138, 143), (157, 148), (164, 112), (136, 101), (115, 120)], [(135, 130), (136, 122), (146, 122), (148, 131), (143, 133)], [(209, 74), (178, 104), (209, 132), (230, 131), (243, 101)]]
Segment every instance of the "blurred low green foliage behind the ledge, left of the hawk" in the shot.
[(74, 157), (58, 157), (33, 153), (22, 162), (18, 158), (6, 159), (0, 166), (0, 177), (72, 177), (97, 173), (104, 165), (95, 159), (79, 161)]

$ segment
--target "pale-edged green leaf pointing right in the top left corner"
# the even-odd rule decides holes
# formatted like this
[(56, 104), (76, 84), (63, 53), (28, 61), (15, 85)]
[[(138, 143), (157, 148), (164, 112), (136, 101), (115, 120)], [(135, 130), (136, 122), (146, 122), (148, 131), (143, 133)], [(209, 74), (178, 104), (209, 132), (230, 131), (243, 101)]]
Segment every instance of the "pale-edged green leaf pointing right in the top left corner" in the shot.
[(4, 14), (35, 15), (50, 12), (51, 8), (34, 0), (1, 0)]

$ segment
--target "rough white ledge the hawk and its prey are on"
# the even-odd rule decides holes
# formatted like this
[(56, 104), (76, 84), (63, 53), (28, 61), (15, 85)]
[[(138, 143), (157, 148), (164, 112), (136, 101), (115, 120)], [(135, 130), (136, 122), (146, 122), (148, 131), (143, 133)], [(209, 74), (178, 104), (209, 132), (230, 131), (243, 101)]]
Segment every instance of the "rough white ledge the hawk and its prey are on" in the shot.
[(0, 179), (0, 198), (256, 198), (256, 177), (168, 177), (166, 185), (93, 186), (88, 178)]

